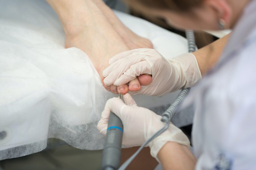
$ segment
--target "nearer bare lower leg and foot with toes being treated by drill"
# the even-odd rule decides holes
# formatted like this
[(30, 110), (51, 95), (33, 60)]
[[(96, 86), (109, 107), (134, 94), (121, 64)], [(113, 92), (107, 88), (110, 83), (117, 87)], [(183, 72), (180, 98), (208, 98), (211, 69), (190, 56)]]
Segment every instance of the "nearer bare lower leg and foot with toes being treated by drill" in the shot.
[(109, 66), (109, 59), (130, 48), (92, 0), (78, 0), (76, 3), (69, 0), (47, 1), (61, 20), (66, 35), (66, 48), (77, 47), (88, 55), (107, 90), (125, 94), (129, 90), (140, 90), (141, 83), (147, 85), (148, 82), (152, 82), (151, 76), (142, 75), (141, 83), (135, 78), (129, 82), (129, 86), (106, 86), (103, 83), (102, 71)]

